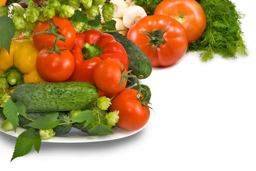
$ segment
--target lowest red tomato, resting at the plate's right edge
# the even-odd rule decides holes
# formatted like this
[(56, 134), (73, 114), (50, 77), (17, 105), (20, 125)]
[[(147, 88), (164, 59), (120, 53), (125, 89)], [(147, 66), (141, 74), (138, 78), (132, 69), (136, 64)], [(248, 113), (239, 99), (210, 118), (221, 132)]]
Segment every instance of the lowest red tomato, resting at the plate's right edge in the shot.
[(137, 93), (137, 90), (125, 89), (111, 100), (109, 109), (111, 112), (119, 110), (119, 121), (116, 125), (124, 130), (139, 130), (148, 122), (150, 110), (140, 103)]

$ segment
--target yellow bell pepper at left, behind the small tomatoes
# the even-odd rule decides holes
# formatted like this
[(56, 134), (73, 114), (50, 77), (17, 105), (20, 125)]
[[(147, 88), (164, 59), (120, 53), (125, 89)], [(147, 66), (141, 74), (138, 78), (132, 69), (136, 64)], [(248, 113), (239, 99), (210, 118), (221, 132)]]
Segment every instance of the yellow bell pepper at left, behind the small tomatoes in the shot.
[(46, 82), (38, 75), (36, 70), (36, 58), (38, 53), (39, 51), (36, 49), (32, 40), (21, 39), (12, 41), (10, 53), (4, 48), (1, 50), (1, 73), (15, 66), (23, 74), (24, 83)]

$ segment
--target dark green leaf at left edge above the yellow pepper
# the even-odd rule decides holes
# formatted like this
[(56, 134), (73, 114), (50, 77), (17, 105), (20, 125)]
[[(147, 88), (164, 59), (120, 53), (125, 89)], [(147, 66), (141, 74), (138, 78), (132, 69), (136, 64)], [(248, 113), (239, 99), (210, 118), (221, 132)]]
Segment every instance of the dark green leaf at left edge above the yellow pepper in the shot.
[(15, 26), (12, 19), (8, 16), (0, 17), (0, 47), (3, 47), (10, 53), (10, 46), (15, 32)]

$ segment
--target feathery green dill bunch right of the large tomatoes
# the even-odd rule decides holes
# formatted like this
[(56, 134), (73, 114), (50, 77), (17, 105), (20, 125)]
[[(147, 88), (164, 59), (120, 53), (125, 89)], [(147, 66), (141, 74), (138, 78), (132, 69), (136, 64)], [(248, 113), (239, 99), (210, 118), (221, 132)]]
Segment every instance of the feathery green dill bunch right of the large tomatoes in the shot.
[(237, 58), (246, 52), (241, 19), (244, 14), (236, 10), (230, 0), (196, 0), (204, 9), (207, 25), (198, 41), (188, 46), (188, 52), (199, 52), (203, 62), (210, 61), (215, 54), (222, 58)]

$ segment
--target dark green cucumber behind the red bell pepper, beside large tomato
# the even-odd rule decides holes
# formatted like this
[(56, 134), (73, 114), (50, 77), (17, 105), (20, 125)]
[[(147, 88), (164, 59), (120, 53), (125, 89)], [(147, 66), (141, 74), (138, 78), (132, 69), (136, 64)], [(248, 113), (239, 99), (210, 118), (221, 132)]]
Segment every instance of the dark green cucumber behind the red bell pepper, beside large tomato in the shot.
[(116, 41), (125, 48), (128, 55), (129, 70), (132, 70), (131, 74), (137, 76), (139, 79), (148, 78), (152, 72), (152, 65), (140, 47), (119, 32), (112, 32), (109, 34), (111, 34)]

